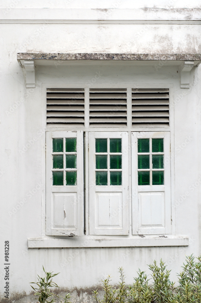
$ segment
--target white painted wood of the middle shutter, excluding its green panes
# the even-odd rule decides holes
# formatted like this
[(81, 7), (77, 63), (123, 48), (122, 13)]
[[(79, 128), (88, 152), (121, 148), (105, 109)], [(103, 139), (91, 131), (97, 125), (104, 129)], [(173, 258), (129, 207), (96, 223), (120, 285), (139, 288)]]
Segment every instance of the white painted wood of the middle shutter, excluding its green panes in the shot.
[(128, 146), (127, 132), (89, 133), (89, 234), (128, 235), (128, 154), (122, 148), (122, 185), (109, 185), (109, 174), (108, 185), (96, 185), (95, 138), (107, 138), (108, 145), (109, 138), (122, 138)]

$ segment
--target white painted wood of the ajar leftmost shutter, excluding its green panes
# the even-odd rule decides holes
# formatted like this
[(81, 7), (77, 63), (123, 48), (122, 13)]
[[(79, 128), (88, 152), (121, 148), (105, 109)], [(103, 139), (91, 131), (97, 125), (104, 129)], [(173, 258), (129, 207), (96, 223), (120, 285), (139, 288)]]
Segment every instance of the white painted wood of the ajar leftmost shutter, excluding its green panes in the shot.
[[(52, 185), (52, 138), (77, 138), (77, 185)], [(83, 132), (47, 132), (46, 160), (46, 234), (83, 235)]]

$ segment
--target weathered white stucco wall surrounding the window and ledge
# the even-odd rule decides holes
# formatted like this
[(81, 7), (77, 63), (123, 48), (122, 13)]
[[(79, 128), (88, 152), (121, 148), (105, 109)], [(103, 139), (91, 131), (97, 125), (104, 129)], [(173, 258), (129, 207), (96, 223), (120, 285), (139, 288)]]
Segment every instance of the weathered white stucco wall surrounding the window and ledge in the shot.
[[(199, 14), (194, 9), (199, 7), (199, 1), (169, 1), (169, 4), (167, 1), (141, 1), (140, 5), (139, 2), (125, 1), (118, 2), (118, 7), (114, 8), (116, 2), (87, 1), (84, 4), (78, 0), (56, 3), (34, 1), (30, 5), (27, 1), (16, 0), (2, 1), (0, 4), (2, 295), (6, 240), (10, 242), (10, 294), (23, 291), (29, 293), (29, 282), (35, 281), (37, 274), (42, 274), (42, 265), (48, 271), (60, 272), (55, 277), (59, 286), (79, 288), (97, 285), (108, 274), (113, 277), (112, 281), (117, 283), (119, 266), (124, 268), (126, 282), (131, 283), (138, 268), (147, 269), (147, 264), (154, 259), (163, 258), (168, 268), (172, 269), (172, 279), (175, 280), (185, 254), (199, 255), (201, 252), (200, 67), (191, 72), (190, 89), (180, 88), (180, 67), (166, 64), (161, 64), (163, 66), (158, 69), (154, 66), (119, 67), (118, 63), (112, 67), (100, 64), (91, 65), (89, 68), (81, 65), (37, 66), (36, 88), (25, 86), (25, 71), (19, 66), (16, 58), (18, 52), (200, 52)], [(183, 6), (186, 9), (183, 9)], [(146, 7), (149, 8), (144, 9)], [(112, 9), (108, 12), (104, 8)], [(13, 19), (15, 21), (12, 21)], [(20, 22), (20, 19), (25, 19), (26, 22)], [(62, 21), (59, 21), (52, 24), (47, 21), (50, 19), (64, 19), (68, 22), (64, 21), (62, 24)], [(80, 22), (83, 19), (92, 22)], [(102, 24), (96, 21), (100, 19), (132, 22), (107, 21)], [(135, 21), (140, 19), (141, 24)], [(43, 20), (43, 23), (38, 23), (37, 20)], [(156, 21), (143, 23), (143, 20)], [(164, 20), (171, 22), (168, 24)], [(193, 22), (190, 22), (191, 20)], [(188, 236), (189, 246), (28, 249), (28, 238), (41, 237), (45, 233), (45, 132), (42, 120), (45, 100), (42, 98), (41, 84), (83, 84), (90, 81), (97, 71), (104, 75), (97, 83), (120, 81), (140, 85), (160, 83), (173, 86), (174, 99), (171, 102), (174, 104), (175, 157), (172, 161), (175, 163), (175, 201), (180, 198), (180, 202), (176, 203), (173, 220), (175, 234)], [(37, 140), (31, 143), (27, 151), (21, 153), (24, 145), (32, 142), (34, 137)], [(185, 143), (186, 138), (190, 138), (189, 143)], [(33, 190), (36, 192), (33, 193)], [(186, 191), (189, 192), (187, 197)], [(14, 213), (16, 205), (19, 205), (23, 198), (26, 198), (26, 203)]]

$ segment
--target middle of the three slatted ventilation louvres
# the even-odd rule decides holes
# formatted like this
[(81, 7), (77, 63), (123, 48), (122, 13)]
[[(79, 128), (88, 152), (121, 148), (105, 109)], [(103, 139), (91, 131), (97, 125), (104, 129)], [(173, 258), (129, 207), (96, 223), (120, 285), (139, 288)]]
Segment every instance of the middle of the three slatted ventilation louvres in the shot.
[(126, 89), (89, 90), (90, 127), (126, 127)]

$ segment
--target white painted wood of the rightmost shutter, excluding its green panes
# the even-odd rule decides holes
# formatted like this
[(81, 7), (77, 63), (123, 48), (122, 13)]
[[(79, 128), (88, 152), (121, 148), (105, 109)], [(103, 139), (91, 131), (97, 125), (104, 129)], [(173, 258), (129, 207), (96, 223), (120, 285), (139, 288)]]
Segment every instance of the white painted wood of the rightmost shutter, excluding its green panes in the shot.
[[(164, 138), (164, 185), (138, 184), (138, 138)], [(160, 154), (160, 153), (159, 153)], [(171, 233), (170, 133), (132, 133), (132, 224), (133, 235)], [(151, 167), (151, 157), (150, 157)], [(151, 181), (151, 180), (150, 180)], [(152, 183), (151, 183), (152, 184)]]

